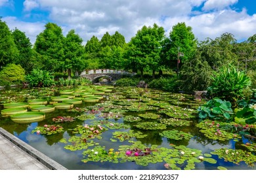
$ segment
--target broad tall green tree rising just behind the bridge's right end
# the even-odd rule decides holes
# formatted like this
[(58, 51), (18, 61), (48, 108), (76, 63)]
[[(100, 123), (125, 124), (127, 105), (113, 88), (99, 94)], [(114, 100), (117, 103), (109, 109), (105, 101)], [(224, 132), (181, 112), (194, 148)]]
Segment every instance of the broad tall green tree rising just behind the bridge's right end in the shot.
[(132, 54), (133, 62), (135, 61), (141, 76), (144, 69), (148, 68), (152, 71), (154, 78), (155, 71), (159, 69), (161, 42), (164, 38), (164, 32), (163, 27), (159, 27), (156, 24), (153, 27), (143, 26), (142, 29), (137, 31), (135, 37), (131, 39), (132, 50), (134, 51)]

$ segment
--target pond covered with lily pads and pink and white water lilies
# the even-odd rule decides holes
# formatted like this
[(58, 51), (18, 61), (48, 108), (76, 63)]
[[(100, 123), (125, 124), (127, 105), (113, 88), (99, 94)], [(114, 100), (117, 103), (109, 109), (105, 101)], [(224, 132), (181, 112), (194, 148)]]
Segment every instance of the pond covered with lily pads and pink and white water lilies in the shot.
[(2, 90), (0, 102), (0, 127), (67, 169), (256, 169), (255, 139), (200, 121), (193, 95), (92, 85)]

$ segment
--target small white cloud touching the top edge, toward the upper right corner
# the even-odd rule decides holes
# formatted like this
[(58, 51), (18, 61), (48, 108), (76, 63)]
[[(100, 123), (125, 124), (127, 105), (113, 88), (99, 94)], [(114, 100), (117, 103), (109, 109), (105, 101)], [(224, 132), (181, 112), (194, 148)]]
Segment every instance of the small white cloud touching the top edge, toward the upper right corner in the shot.
[(203, 5), (203, 10), (221, 10), (238, 3), (238, 0), (207, 0)]

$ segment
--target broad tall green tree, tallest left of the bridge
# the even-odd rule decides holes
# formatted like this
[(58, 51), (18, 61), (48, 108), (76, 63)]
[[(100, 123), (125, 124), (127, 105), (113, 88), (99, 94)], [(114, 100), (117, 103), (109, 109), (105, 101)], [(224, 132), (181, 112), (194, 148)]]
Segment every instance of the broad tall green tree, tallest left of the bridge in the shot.
[(45, 30), (37, 35), (34, 47), (35, 51), (41, 55), (44, 70), (63, 71), (64, 36), (58, 25), (47, 23)]

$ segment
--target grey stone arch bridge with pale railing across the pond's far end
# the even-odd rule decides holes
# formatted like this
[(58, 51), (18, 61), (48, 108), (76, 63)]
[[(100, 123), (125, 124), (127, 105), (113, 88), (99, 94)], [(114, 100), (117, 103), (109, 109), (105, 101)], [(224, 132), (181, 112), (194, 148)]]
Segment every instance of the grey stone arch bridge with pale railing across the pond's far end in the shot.
[(136, 73), (123, 70), (114, 70), (114, 69), (91, 69), (83, 71), (80, 76), (91, 80), (95, 83), (102, 77), (107, 77), (110, 81), (119, 80), (122, 76), (134, 76)]

